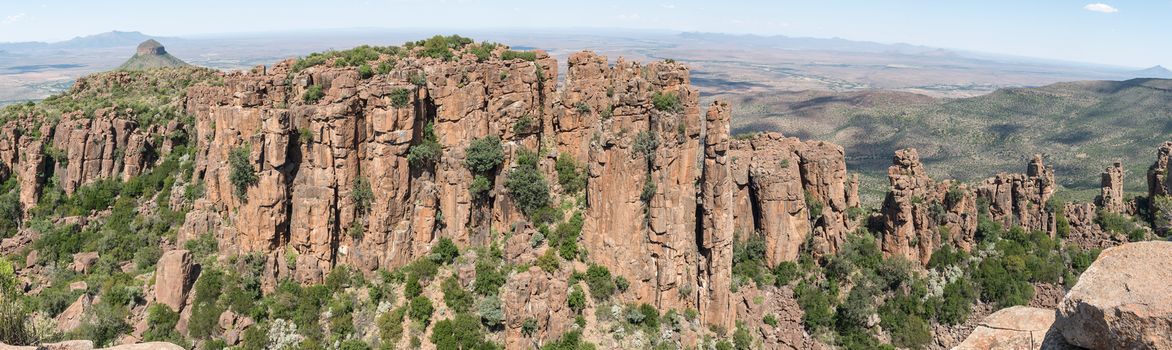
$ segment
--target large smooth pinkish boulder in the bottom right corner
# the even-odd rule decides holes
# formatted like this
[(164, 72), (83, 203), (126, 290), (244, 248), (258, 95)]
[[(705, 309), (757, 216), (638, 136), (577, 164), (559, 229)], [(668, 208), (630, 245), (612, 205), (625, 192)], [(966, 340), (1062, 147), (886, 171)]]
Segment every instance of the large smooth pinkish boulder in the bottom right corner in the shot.
[(1055, 327), (1088, 349), (1172, 349), (1172, 242), (1099, 254), (1058, 306)]

